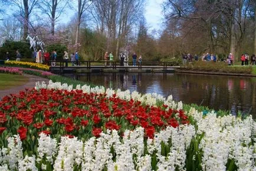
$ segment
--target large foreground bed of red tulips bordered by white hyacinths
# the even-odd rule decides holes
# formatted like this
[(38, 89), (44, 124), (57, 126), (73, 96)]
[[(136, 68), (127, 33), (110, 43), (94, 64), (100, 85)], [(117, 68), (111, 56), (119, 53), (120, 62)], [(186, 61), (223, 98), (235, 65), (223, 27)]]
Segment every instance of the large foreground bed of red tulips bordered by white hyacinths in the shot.
[(252, 121), (183, 111), (172, 96), (37, 83), (0, 101), (0, 170), (250, 170)]

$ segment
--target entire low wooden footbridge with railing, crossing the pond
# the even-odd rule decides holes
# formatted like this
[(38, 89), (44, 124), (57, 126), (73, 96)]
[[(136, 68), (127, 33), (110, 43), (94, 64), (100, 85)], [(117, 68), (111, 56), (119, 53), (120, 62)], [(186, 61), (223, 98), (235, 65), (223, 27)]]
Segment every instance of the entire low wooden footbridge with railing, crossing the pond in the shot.
[[(55, 66), (52, 64), (55, 63)], [(120, 61), (50, 61), (50, 70), (53, 73), (117, 73), (117, 72), (139, 72), (139, 73), (174, 73), (174, 70), (179, 69), (180, 66), (172, 66), (171, 62), (158, 62), (158, 61), (143, 61), (141, 64), (136, 62), (133, 66), (132, 61), (126, 61), (120, 65)], [(105, 65), (106, 64), (106, 65)]]

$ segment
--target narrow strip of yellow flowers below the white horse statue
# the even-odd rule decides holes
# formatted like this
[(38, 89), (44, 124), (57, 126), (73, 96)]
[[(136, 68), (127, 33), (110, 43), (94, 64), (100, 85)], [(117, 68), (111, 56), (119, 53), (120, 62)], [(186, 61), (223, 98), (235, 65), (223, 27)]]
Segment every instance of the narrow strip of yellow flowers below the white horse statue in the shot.
[(5, 65), (12, 66), (12, 67), (34, 68), (34, 69), (44, 70), (44, 71), (48, 71), (50, 68), (48, 65), (22, 62), (22, 61), (5, 61)]

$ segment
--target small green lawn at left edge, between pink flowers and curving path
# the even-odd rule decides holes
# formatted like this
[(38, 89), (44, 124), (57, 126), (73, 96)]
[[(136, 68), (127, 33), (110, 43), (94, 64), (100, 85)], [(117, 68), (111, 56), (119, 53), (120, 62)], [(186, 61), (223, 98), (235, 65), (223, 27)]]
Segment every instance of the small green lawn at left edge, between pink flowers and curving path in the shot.
[(0, 73), (0, 90), (8, 90), (9, 88), (24, 85), (29, 78), (23, 75), (3, 74)]

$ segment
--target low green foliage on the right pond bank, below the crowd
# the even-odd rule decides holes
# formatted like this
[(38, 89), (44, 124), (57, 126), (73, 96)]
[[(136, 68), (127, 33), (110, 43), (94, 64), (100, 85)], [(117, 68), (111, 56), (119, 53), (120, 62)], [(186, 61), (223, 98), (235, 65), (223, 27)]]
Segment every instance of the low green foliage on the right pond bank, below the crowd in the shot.
[(226, 63), (214, 63), (206, 61), (197, 61), (191, 64), (186, 64), (182, 66), (182, 70), (192, 70), (192, 71), (209, 71), (218, 73), (237, 73), (237, 74), (251, 74), (252, 67), (235, 67), (228, 66)]

